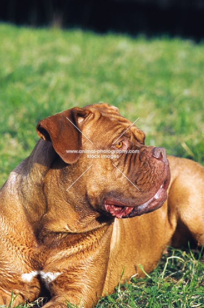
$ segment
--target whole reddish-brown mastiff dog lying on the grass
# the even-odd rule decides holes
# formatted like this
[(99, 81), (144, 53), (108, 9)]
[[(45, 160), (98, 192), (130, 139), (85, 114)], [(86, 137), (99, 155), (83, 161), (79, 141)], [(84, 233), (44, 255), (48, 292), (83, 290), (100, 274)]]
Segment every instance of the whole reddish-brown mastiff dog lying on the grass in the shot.
[(0, 191), (1, 305), (12, 290), (14, 304), (48, 290), (45, 307), (92, 307), (124, 267), (142, 275), (138, 264), (153, 270), (165, 245), (203, 244), (204, 168), (168, 162), (116, 107), (75, 107), (36, 129), (43, 140)]

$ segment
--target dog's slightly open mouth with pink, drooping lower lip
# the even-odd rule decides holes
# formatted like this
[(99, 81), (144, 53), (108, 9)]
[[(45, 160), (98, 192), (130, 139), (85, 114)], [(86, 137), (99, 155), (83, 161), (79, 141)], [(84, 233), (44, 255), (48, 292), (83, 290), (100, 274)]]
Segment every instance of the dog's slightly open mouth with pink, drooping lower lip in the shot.
[(103, 207), (107, 213), (116, 218), (128, 218), (134, 216), (140, 216), (145, 213), (150, 213), (156, 209), (159, 209), (167, 198), (166, 189), (169, 183), (164, 181), (160, 186), (157, 193), (147, 202), (137, 206), (126, 206), (123, 202), (116, 199), (105, 199), (103, 201)]

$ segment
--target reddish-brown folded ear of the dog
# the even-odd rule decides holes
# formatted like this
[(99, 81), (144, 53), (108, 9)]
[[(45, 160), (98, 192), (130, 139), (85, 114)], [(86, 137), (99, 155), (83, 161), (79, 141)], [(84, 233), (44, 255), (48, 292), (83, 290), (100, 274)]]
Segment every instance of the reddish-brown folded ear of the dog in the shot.
[[(89, 110), (74, 107), (40, 120), (36, 126), (37, 134), (46, 141), (51, 141), (53, 148), (67, 164), (75, 163), (82, 148), (82, 121), (90, 114)], [(74, 150), (77, 153), (67, 153)]]

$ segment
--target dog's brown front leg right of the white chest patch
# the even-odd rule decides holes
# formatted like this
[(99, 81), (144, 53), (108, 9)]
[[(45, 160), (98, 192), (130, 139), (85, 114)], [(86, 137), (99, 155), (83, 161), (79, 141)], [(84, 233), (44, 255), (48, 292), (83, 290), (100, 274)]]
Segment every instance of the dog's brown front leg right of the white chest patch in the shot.
[(64, 235), (60, 249), (49, 251), (41, 271), (52, 296), (45, 308), (67, 307), (66, 300), (74, 305), (80, 302), (79, 307), (96, 305), (106, 278), (111, 234), (112, 225), (106, 225), (87, 234)]

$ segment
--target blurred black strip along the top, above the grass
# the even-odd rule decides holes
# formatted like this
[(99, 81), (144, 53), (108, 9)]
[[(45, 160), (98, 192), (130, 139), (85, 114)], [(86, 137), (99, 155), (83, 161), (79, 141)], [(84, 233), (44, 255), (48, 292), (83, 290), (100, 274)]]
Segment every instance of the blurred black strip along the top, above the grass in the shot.
[(1, 0), (0, 19), (147, 36), (203, 38), (204, 0)]

